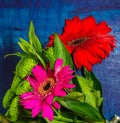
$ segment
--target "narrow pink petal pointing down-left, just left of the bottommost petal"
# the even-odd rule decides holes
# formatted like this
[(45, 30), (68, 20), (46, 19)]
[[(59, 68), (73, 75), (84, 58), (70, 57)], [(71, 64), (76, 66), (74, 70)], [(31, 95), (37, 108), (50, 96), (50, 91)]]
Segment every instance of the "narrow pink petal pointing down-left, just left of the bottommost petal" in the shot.
[(32, 117), (36, 117), (41, 111), (41, 102), (37, 101), (32, 109)]

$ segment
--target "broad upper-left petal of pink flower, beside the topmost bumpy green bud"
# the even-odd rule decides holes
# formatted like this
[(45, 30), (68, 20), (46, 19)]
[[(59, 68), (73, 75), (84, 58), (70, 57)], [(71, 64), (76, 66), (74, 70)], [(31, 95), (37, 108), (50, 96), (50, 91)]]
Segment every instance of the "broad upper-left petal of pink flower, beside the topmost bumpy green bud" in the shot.
[(36, 65), (32, 69), (32, 73), (34, 74), (34, 76), (35, 76), (35, 78), (37, 79), (38, 82), (42, 82), (47, 78), (46, 70), (40, 65)]

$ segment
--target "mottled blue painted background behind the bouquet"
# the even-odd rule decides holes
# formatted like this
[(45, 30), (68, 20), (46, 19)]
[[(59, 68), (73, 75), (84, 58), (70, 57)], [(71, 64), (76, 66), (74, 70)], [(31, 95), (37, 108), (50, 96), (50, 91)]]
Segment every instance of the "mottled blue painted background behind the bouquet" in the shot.
[(119, 0), (0, 0), (0, 113), (5, 113), (2, 98), (10, 87), (20, 51), (19, 37), (28, 39), (30, 20), (44, 46), (51, 33), (61, 33), (66, 18), (93, 15), (97, 22), (106, 21), (118, 40), (110, 57), (93, 67), (101, 81), (104, 96), (103, 112), (110, 120), (120, 115), (120, 1)]

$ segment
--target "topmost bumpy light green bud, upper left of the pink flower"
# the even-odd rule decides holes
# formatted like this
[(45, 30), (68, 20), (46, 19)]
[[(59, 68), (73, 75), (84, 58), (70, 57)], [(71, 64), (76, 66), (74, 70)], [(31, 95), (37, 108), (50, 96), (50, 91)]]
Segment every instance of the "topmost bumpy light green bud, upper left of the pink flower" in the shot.
[(32, 68), (38, 63), (34, 57), (23, 57), (16, 66), (15, 74), (21, 78), (31, 73)]

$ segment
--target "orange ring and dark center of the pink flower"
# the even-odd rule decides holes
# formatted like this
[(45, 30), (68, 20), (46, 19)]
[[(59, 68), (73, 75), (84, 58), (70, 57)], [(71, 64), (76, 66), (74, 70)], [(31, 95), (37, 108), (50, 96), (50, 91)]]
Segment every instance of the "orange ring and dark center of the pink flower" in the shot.
[(45, 81), (43, 81), (42, 83), (40, 83), (40, 85), (38, 86), (38, 92), (45, 96), (47, 95), (49, 92), (51, 92), (52, 88), (54, 87), (55, 81), (53, 78), (48, 78)]

